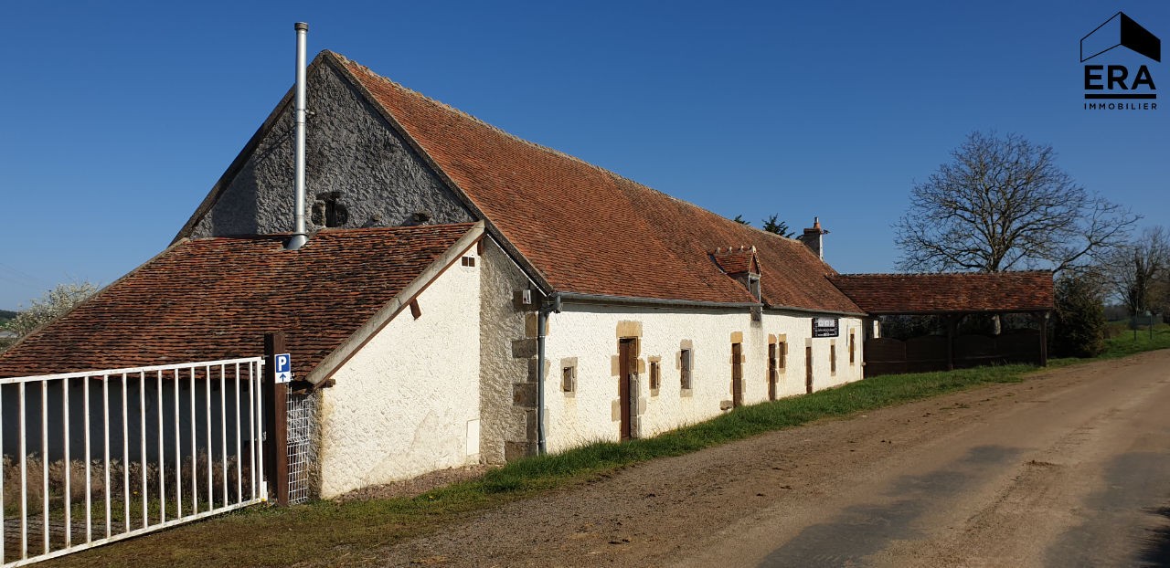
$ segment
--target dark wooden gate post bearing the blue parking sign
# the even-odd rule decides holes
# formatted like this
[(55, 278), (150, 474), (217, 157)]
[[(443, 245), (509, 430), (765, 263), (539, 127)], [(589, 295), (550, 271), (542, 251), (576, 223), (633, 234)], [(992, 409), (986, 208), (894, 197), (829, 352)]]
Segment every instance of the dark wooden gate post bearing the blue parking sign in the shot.
[(269, 479), (269, 499), (289, 504), (288, 456), (288, 385), (276, 383), (276, 355), (287, 353), (284, 333), (264, 334), (264, 472)]

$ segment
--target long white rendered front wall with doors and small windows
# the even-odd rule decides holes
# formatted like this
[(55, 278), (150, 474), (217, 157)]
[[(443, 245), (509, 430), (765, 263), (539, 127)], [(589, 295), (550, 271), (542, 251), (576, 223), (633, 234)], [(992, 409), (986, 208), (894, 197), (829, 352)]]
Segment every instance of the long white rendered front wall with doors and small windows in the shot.
[[(812, 339), (811, 314), (768, 312), (751, 321), (743, 312), (668, 310), (654, 307), (565, 304), (549, 317), (545, 345), (546, 444), (562, 451), (589, 442), (620, 437), (618, 410), (618, 344), (638, 330), (639, 435), (654, 436), (721, 414), (731, 401), (731, 342), (741, 339), (743, 401), (766, 401), (770, 337), (787, 342), (779, 372), (777, 397), (805, 393), (805, 347), (812, 346), (815, 390), (862, 377), (862, 328), (859, 318), (840, 318), (840, 335)], [(619, 331), (620, 330), (620, 331)], [(848, 338), (856, 334), (854, 362)], [(737, 335), (734, 335), (737, 334)], [(691, 389), (680, 386), (681, 345), (691, 345)], [(837, 345), (837, 372), (831, 370), (830, 346)], [(573, 393), (562, 389), (563, 363), (577, 365)], [(661, 386), (649, 388), (649, 361), (661, 361)]]

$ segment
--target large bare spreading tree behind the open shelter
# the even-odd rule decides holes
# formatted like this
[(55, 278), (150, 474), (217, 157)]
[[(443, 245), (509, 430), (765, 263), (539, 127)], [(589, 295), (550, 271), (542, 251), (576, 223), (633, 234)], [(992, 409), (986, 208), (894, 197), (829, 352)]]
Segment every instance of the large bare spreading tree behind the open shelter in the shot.
[(925, 182), (895, 226), (907, 271), (980, 271), (1090, 264), (1138, 216), (1089, 193), (1051, 146), (972, 132)]

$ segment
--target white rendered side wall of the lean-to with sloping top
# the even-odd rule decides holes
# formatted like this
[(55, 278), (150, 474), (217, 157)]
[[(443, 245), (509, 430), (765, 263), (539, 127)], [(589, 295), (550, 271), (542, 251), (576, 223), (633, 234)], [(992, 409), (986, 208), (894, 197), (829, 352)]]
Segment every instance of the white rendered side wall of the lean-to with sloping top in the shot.
[(322, 390), (323, 498), (479, 463), (477, 270), (456, 261)]

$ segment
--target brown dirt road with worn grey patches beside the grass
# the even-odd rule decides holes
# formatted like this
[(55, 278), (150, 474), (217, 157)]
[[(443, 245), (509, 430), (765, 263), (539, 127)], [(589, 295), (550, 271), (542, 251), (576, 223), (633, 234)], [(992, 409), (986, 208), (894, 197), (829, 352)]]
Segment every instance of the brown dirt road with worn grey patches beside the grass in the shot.
[(1170, 566), (1170, 351), (628, 467), (337, 563)]

